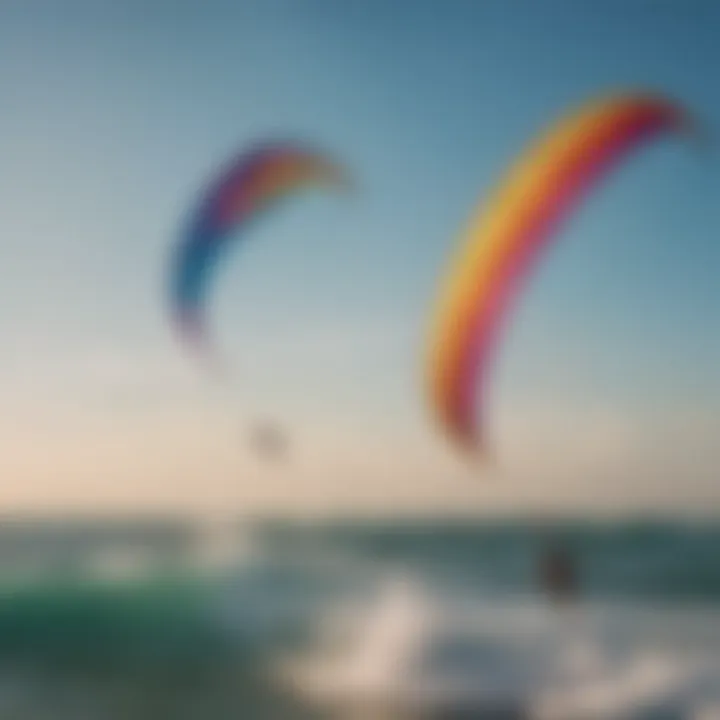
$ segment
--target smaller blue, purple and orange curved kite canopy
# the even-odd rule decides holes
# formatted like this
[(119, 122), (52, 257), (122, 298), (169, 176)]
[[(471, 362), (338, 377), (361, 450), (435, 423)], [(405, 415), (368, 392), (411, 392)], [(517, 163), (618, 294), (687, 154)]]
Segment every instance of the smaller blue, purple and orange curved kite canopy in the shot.
[(172, 315), (181, 334), (194, 343), (207, 340), (208, 286), (236, 231), (304, 187), (346, 182), (327, 157), (290, 143), (265, 144), (236, 158), (205, 193), (173, 258)]

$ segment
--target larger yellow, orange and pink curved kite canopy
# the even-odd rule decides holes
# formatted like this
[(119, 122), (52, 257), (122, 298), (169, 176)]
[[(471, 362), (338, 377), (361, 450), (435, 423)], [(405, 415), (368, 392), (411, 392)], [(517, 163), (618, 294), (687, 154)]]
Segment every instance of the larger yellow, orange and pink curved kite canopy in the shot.
[(472, 219), (441, 288), (428, 363), (432, 409), (461, 448), (486, 450), (475, 403), (482, 407), (511, 302), (559, 224), (642, 141), (689, 123), (681, 108), (658, 96), (595, 100), (531, 146)]

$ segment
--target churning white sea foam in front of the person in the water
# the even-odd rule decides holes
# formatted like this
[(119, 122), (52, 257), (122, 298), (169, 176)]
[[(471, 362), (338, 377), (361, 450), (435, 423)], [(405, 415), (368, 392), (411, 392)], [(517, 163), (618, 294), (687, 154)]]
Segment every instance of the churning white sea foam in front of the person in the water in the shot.
[(720, 612), (560, 611), (527, 599), (461, 610), (395, 577), (374, 604), (341, 615), (325, 618), (324, 640), (280, 675), (336, 711), (505, 708), (536, 720), (717, 713), (709, 703), (720, 700), (711, 696), (720, 691)]

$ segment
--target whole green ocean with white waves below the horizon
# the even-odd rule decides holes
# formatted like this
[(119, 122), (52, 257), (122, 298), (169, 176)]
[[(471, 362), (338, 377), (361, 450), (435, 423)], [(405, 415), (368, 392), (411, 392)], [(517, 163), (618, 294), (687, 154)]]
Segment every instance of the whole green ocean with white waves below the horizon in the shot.
[(719, 558), (710, 523), (14, 521), (0, 717), (710, 720)]

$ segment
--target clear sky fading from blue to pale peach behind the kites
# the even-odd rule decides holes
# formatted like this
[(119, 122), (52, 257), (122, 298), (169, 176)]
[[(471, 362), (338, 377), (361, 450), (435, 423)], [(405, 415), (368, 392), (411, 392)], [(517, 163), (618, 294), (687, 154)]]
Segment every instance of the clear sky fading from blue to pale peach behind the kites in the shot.
[[(614, 87), (717, 131), (718, 28), (711, 0), (5, 0), (5, 507), (720, 506), (717, 156), (648, 147), (565, 228), (502, 347), (498, 471), (453, 455), (421, 385), (438, 274), (505, 165)], [(223, 268), (219, 388), (171, 336), (167, 256), (218, 164), (278, 136), (359, 192), (303, 197)], [(258, 413), (292, 462), (248, 452)]]

